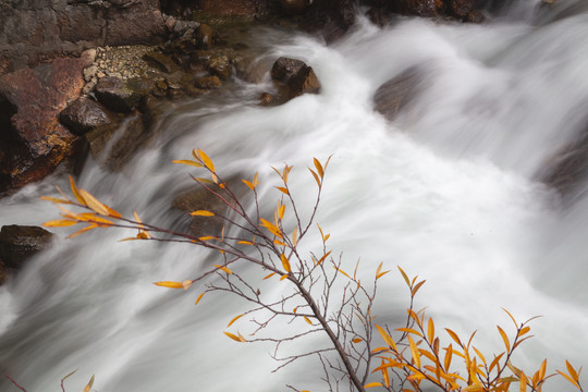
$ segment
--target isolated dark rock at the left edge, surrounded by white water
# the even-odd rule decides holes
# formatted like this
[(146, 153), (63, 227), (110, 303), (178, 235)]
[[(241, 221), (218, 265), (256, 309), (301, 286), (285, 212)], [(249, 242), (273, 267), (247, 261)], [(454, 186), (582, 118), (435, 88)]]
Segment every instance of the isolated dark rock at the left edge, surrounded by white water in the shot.
[(52, 236), (39, 226), (4, 225), (0, 230), (0, 259), (8, 270), (19, 270), (26, 260), (47, 248)]

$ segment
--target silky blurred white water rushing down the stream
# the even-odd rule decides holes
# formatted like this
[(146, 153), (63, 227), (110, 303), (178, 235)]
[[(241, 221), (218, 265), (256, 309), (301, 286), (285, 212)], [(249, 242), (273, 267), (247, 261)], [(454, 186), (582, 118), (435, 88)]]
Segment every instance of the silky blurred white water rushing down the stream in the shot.
[[(189, 179), (169, 162), (193, 147), (226, 174), (259, 171), (262, 203), (271, 205), (270, 166), (293, 164), (292, 188), (307, 207), (316, 186), (305, 167), (332, 154), (318, 221), (334, 253), (350, 265), (360, 257), (367, 275), (384, 261), (427, 279), (417, 307), (428, 306), (438, 328), (478, 330), (490, 352), (501, 347), (494, 326), (512, 327), (501, 307), (519, 321), (542, 315), (518, 360), (537, 366), (548, 357), (550, 370), (563, 369), (564, 358), (587, 365), (588, 200), (562, 209), (532, 180), (578, 131), (588, 97), (588, 10), (561, 1), (559, 20), (535, 13), (537, 1), (519, 1), (479, 26), (403, 20), (381, 29), (364, 21), (330, 47), (258, 34), (266, 60), (305, 60), (322, 93), (260, 108), (268, 86), (243, 85), (224, 100), (177, 106), (160, 124), (157, 146), (120, 174), (89, 162), (79, 185), (121, 211), (171, 225), (180, 219), (171, 199)], [(424, 88), (390, 123), (373, 112), (371, 97), (413, 65), (425, 70)], [(0, 224), (56, 219), (37, 198), (53, 183), (66, 187), (56, 175), (0, 200)], [(128, 235), (120, 231), (68, 234), (58, 231), (53, 248), (0, 289), (0, 370), (28, 392), (58, 391), (74, 369), (69, 391), (93, 373), (105, 392), (324, 390), (315, 362), (270, 373), (270, 347), (222, 334), (242, 303), (210, 295), (195, 307), (197, 287), (151, 284), (196, 275), (201, 250), (118, 243)], [(381, 282), (378, 314), (397, 315), (407, 290), (395, 272)], [(240, 320), (234, 328), (253, 327)], [(15, 390), (5, 380), (0, 389)]]

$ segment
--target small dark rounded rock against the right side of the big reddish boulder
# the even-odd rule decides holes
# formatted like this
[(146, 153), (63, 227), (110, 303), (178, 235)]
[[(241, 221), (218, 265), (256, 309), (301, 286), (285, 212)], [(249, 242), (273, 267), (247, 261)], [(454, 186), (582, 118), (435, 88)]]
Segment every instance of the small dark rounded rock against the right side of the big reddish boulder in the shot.
[(88, 98), (78, 98), (73, 101), (60, 113), (59, 119), (63, 125), (76, 135), (83, 135), (98, 126), (108, 125), (112, 122), (108, 110)]

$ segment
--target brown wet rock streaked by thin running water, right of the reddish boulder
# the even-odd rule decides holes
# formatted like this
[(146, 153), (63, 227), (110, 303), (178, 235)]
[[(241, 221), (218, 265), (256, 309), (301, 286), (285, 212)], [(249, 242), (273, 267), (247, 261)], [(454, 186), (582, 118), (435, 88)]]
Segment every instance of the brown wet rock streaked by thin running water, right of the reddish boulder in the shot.
[(93, 157), (108, 170), (120, 171), (148, 140), (149, 128), (138, 113), (84, 135)]

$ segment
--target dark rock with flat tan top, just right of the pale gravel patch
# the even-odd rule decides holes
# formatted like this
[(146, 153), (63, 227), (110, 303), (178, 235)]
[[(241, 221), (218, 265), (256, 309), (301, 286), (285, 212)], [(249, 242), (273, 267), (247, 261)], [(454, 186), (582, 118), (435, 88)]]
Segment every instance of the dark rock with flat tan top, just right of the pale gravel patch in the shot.
[(146, 78), (123, 81), (120, 77), (102, 77), (95, 88), (98, 101), (117, 112), (131, 112), (139, 99), (154, 88), (152, 82)]

